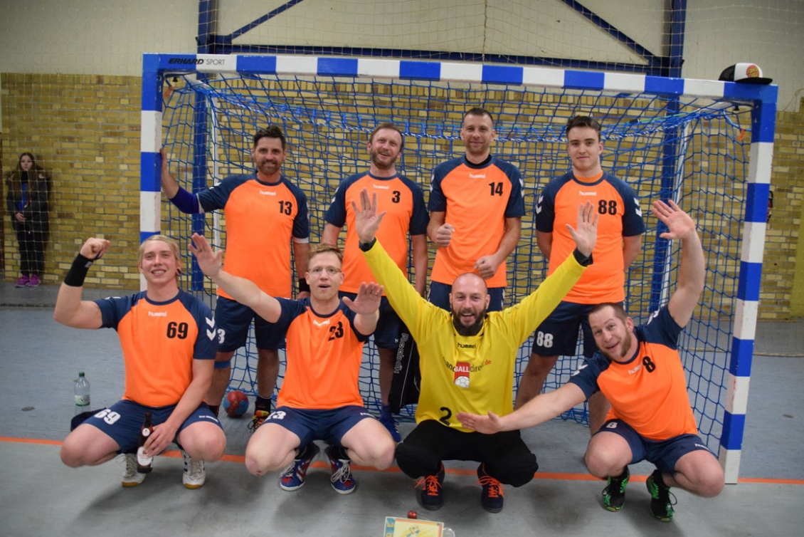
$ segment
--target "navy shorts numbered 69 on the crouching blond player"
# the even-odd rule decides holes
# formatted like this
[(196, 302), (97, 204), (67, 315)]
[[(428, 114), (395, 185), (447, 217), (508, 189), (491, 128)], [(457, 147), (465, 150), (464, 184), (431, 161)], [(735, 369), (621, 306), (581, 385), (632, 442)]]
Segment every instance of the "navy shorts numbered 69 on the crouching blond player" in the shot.
[[(167, 421), (175, 407), (176, 405), (146, 407), (139, 403), (123, 399), (114, 403), (111, 408), (105, 408), (99, 411), (96, 415), (84, 421), (84, 423), (99, 428), (101, 431), (111, 436), (112, 439), (117, 442), (117, 445), (120, 446), (119, 452), (127, 452), (133, 448), (137, 448), (142, 422), (146, 419), (146, 411), (151, 412), (151, 423), (158, 425)], [(215, 425), (223, 429), (218, 419), (215, 418), (215, 415), (212, 414), (212, 411), (207, 407), (207, 403), (201, 403), (195, 411), (192, 411), (191, 414), (187, 416), (187, 419), (184, 420), (181, 427), (178, 428), (176, 438), (178, 438), (178, 433), (182, 432), (193, 423), (201, 421), (215, 423)], [(173, 441), (176, 442), (176, 439), (174, 438)]]

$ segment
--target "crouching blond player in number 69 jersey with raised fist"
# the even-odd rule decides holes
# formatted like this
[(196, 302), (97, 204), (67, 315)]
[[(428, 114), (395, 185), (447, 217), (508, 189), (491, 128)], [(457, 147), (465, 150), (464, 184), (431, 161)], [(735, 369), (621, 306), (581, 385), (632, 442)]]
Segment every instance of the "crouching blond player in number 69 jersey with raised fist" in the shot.
[(188, 489), (206, 479), (204, 461), (224, 454), (226, 436), (205, 403), (215, 357), (215, 321), (205, 304), (178, 288), (178, 245), (162, 235), (140, 246), (137, 266), (146, 291), (124, 298), (81, 300), (92, 261), (109, 249), (109, 241), (90, 238), (59, 288), (53, 318), (73, 328), (114, 328), (125, 361), (125, 393), (81, 423), (61, 446), (61, 460), (72, 468), (100, 465), (125, 453), (123, 486), (145, 479), (137, 472), (140, 428), (146, 411), (154, 432), (146, 456), (158, 455), (170, 442), (182, 449)]

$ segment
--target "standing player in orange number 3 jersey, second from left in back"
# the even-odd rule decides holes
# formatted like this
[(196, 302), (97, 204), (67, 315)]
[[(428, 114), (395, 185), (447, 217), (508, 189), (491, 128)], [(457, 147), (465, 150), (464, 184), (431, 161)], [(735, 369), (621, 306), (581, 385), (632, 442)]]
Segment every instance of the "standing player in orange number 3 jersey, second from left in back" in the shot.
[[(425, 295), (427, 280), (427, 209), (425, 196), (419, 185), (396, 171), (396, 159), (404, 147), (404, 139), (400, 130), (392, 123), (382, 123), (375, 128), (368, 138), (367, 151), (371, 156), (368, 171), (348, 177), (344, 180), (324, 219), (324, 233), (321, 242), (338, 243), (338, 233), (343, 225), (347, 225), (347, 240), (343, 249), (343, 285), (341, 296), (355, 299), (355, 293), (361, 282), (371, 282), (374, 276), (360, 254), (358, 237), (355, 232), (355, 213), (352, 202), (360, 199), (360, 191), (368, 188), (377, 193), (379, 208), (387, 215), (385, 225), (379, 231), (379, 238), (388, 249), (396, 266), (403, 274), (408, 270), (408, 241), (413, 250), (413, 268), (416, 271), (416, 291)], [(394, 361), (398, 347), (397, 337), (400, 320), (396, 312), (383, 297), (379, 306), (379, 321), (374, 333), (375, 345), (379, 353), (379, 393), (382, 400), (382, 411), (379, 422), (391, 433), (395, 442), (401, 440), (396, 430), (396, 423), (388, 407), (388, 393), (394, 374)]]

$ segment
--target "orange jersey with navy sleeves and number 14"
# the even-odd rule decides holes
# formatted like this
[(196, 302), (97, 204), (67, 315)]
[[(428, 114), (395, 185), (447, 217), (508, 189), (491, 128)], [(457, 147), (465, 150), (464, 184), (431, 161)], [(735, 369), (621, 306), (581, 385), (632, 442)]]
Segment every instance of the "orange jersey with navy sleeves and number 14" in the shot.
[[(474, 263), (498, 250), (506, 218), (524, 216), (519, 169), (494, 156), (481, 165), (466, 157), (441, 163), (433, 171), (428, 209), (444, 212), (444, 223), (455, 227), (449, 246), (436, 251), (430, 275), (433, 282), (452, 285), (461, 274), (478, 274)], [(503, 262), (486, 286), (505, 287), (506, 277)]]

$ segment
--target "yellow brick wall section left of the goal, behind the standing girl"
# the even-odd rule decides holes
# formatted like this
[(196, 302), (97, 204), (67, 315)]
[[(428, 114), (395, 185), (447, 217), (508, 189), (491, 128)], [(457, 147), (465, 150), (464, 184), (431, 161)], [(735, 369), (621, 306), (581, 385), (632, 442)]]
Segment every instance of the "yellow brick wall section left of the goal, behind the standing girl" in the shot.
[[(87, 285), (139, 287), (140, 87), (132, 76), (2, 75), (3, 171), (30, 151), (53, 177), (45, 283), (59, 283), (84, 240), (100, 236), (113, 250)], [(19, 254), (5, 210), (3, 247), (5, 279), (16, 279)]]

